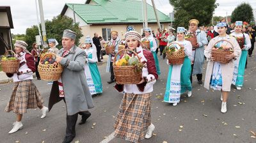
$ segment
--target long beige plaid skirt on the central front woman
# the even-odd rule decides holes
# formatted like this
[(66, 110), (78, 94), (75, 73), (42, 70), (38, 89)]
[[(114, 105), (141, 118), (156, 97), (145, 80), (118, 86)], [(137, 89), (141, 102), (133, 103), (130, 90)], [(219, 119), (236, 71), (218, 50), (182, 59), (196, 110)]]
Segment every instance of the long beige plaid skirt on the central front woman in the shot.
[(115, 137), (129, 142), (139, 142), (145, 138), (151, 124), (151, 93), (125, 93), (114, 124)]

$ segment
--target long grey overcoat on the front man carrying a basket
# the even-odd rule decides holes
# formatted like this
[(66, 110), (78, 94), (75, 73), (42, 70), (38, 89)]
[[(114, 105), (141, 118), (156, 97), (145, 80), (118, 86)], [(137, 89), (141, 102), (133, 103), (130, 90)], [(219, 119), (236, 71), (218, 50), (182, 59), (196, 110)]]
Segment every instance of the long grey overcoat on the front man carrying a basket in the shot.
[[(63, 55), (63, 49), (60, 49), (58, 55)], [(63, 83), (68, 116), (94, 107), (84, 75), (85, 59), (86, 53), (84, 50), (74, 46), (70, 49), (70, 52), (63, 57), (60, 63), (63, 66), (61, 80)], [(55, 103), (60, 102), (62, 99), (63, 98), (59, 96), (58, 82), (54, 81), (49, 98), (49, 110), (51, 110)]]

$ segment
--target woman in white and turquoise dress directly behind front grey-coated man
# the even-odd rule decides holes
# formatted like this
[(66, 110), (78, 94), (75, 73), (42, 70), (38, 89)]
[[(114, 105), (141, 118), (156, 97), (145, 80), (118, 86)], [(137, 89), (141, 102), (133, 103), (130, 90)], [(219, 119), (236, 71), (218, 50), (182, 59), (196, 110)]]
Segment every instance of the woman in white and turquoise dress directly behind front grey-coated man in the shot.
[(84, 49), (84, 51), (86, 52), (86, 64), (84, 66), (84, 73), (90, 89), (90, 93), (93, 95), (102, 93), (102, 83), (97, 66), (97, 50), (93, 49), (92, 43), (92, 38), (90, 36), (86, 36), (86, 49)]

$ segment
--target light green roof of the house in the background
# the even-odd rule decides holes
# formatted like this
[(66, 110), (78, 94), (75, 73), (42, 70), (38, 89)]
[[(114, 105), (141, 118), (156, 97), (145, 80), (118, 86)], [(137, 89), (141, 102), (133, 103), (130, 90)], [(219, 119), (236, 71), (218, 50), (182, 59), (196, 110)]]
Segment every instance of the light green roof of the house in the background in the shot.
[[(70, 4), (66, 3), (87, 24), (117, 24), (117, 23), (141, 23), (141, 1), (136, 0), (93, 0), (97, 4)], [(65, 14), (67, 7), (61, 15)], [(147, 4), (148, 23), (156, 22), (156, 16), (152, 6)], [(170, 17), (157, 10), (160, 22), (171, 22)]]

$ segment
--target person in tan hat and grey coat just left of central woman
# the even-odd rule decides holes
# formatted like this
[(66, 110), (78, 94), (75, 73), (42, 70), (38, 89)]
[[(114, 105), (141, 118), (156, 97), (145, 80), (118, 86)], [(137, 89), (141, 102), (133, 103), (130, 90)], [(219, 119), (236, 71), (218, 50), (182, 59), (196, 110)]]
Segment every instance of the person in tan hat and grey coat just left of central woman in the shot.
[[(109, 54), (108, 63), (106, 66), (106, 72), (108, 73), (110, 72), (111, 74), (108, 84), (112, 84), (113, 82), (115, 82), (115, 75), (113, 71), (113, 60), (114, 60), (115, 54), (118, 52), (119, 43), (120, 43), (120, 38), (118, 37), (117, 31), (111, 31), (110, 45), (114, 46), (115, 50), (113, 50), (112, 54)], [(117, 56), (116, 60), (118, 59), (119, 59), (119, 56)]]

